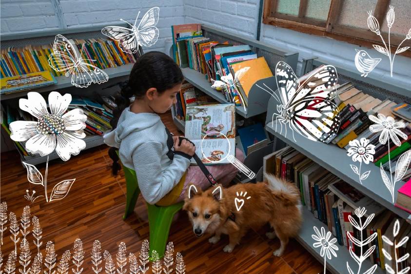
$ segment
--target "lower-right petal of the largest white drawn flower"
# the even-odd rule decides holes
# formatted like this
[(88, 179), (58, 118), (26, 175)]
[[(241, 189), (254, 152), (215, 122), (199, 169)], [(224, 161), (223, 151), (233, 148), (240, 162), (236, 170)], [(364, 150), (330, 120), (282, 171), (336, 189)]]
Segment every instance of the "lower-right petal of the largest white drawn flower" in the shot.
[(86, 142), (77, 138), (70, 131), (57, 135), (56, 152), (63, 161), (69, 160), (71, 155), (78, 155), (85, 147)]

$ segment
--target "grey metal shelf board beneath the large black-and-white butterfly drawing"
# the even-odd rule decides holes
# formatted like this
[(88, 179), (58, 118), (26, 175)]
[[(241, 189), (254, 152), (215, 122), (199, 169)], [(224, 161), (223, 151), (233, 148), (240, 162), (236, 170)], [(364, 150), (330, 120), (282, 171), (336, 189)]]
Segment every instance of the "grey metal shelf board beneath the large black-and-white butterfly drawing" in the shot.
[[(277, 129), (279, 129), (279, 127), (280, 126), (277, 125)], [(279, 130), (275, 130), (275, 122), (273, 126), (272, 123), (269, 122), (266, 125), (266, 130), (391, 212), (404, 219), (410, 215), (406, 211), (394, 206), (390, 191), (386, 188), (381, 178), (380, 170), (373, 163), (366, 166), (367, 170), (371, 171), (369, 177), (360, 183), (358, 175), (355, 175), (350, 168), (350, 164), (353, 162), (351, 157), (347, 156), (346, 150), (336, 145), (309, 140), (296, 132), (294, 132), (293, 137), (291, 128), (288, 125), (286, 125), (286, 127), (286, 129), (282, 129), (282, 134), (280, 134)], [(287, 135), (285, 136), (286, 132)], [(394, 201), (396, 200), (398, 189), (404, 184), (404, 181), (396, 182)]]

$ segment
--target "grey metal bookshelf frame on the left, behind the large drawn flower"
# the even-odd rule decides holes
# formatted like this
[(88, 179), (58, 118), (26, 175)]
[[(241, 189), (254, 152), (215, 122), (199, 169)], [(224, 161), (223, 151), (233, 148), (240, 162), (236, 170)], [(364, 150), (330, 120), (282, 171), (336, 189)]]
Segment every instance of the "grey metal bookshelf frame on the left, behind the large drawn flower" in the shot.
[[(119, 24), (126, 26), (126, 24)], [(90, 39), (90, 38), (107, 38), (101, 33), (101, 28), (104, 26), (91, 26), (86, 28), (72, 28), (72, 29), (65, 29), (65, 30), (51, 30), (46, 32), (32, 32), (32, 33), (24, 33), (24, 34), (12, 34), (12, 35), (2, 35), (1, 36), (1, 48), (7, 47), (23, 47), (25, 45), (45, 45), (51, 44), (54, 42), (55, 36), (57, 34), (63, 34), (67, 39)], [(109, 77), (109, 81), (118, 79), (120, 77), (125, 77), (130, 74), (130, 71), (133, 67), (133, 63), (125, 64), (122, 66), (118, 66), (115, 68), (106, 68), (104, 72), (107, 73)], [(4, 102), (5, 100), (12, 99), (15, 100), (16, 98), (23, 98), (27, 96), (27, 93), (30, 91), (35, 91), (39, 93), (47, 93), (50, 91), (65, 89), (65, 92), (78, 94), (79, 91), (84, 93), (92, 92), (91, 87), (97, 88), (97, 84), (92, 84), (87, 89), (76, 89), (71, 84), (71, 77), (56, 77), (57, 84), (41, 87), (38, 89), (26, 90), (21, 92), (9, 93), (0, 95), (0, 100)], [(103, 144), (103, 138), (99, 135), (91, 135), (84, 138), (86, 142), (86, 148), (89, 149), (98, 145)], [(16, 148), (20, 153), (21, 161), (25, 161), (30, 164), (39, 164), (45, 162), (47, 159), (46, 157), (40, 157), (39, 155), (30, 155), (30, 156), (23, 156), (18, 148)], [(58, 158), (56, 152), (49, 155), (50, 159)]]

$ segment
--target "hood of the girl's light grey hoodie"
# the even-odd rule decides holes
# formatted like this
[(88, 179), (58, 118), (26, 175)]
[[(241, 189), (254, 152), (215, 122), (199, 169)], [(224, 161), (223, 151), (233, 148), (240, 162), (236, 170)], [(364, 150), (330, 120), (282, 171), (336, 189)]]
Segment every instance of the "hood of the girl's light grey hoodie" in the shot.
[(151, 128), (159, 121), (160, 117), (155, 113), (134, 113), (130, 111), (130, 107), (127, 107), (118, 119), (117, 128), (104, 134), (104, 143), (119, 148), (121, 141), (131, 133)]

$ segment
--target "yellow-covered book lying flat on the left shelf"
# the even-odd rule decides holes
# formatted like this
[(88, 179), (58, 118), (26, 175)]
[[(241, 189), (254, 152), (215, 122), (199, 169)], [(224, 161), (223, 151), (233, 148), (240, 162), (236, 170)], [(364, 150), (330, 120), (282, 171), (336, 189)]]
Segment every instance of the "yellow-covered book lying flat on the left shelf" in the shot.
[(33, 72), (0, 79), (0, 94), (9, 94), (28, 89), (56, 84), (57, 80), (49, 71)]

